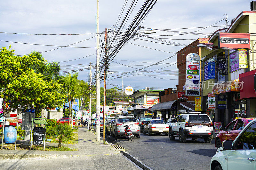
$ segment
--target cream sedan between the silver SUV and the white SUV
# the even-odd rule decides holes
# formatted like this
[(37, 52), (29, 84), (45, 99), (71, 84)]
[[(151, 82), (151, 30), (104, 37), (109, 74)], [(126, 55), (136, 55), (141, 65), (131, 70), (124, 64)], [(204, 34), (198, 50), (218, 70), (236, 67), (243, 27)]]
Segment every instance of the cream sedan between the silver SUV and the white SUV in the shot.
[(165, 133), (167, 136), (169, 132), (169, 125), (165, 123), (164, 120), (161, 119), (152, 119), (149, 120), (143, 127), (143, 134), (148, 133), (148, 135), (151, 135), (152, 133), (158, 133), (162, 135), (162, 133)]

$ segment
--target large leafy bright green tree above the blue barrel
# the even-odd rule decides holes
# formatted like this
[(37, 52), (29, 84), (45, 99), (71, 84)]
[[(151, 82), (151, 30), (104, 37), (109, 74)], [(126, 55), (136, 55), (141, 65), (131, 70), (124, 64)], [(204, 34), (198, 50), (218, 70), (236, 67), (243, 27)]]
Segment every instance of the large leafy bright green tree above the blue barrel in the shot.
[(33, 67), (43, 65), (35, 55), (16, 56), (14, 50), (2, 47), (0, 50), (0, 97), (4, 99), (3, 116), (18, 108), (46, 108), (62, 104), (58, 81), (45, 81), (43, 74), (37, 74)]

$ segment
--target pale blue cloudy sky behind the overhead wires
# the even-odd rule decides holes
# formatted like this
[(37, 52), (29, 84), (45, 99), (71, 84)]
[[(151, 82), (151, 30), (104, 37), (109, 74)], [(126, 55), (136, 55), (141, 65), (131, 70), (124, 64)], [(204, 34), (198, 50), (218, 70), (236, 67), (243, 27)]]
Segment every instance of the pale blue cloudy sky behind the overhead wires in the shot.
[[(104, 32), (105, 28), (111, 28), (112, 30), (115, 28), (113, 25), (116, 25), (125, 2), (126, 0), (100, 0), (100, 33)], [(177, 39), (198, 39), (204, 38), (204, 35), (211, 35), (217, 29), (224, 28), (224, 14), (227, 14), (228, 24), (230, 25), (231, 19), (236, 18), (242, 11), (250, 11), (250, 2), (251, 0), (158, 0), (141, 26), (154, 29), (177, 29), (207, 27), (217, 23), (213, 25), (216, 27), (209, 27), (200, 31), (198, 31), (200, 28), (173, 30), (182, 32), (198, 31), (198, 33), (204, 33), (203, 35), (184, 34), (175, 36), (178, 33), (165, 31), (156, 31), (156, 33), (150, 34), (172, 35), (166, 36), (166, 38), (172, 38), (169, 41), (175, 44), (188, 45), (193, 40)], [(127, 7), (131, 3), (131, 0), (127, 0), (124, 12), (127, 11)], [(143, 3), (144, 1), (142, 0), (138, 1), (124, 28), (127, 28), (127, 25), (131, 23), (131, 19), (134, 18)], [(33, 50), (42, 52), (45, 60), (60, 64), (60, 75), (65, 75), (68, 72), (74, 74), (76, 72), (80, 80), (88, 82), (89, 70), (87, 68), (89, 63), (92, 62), (92, 65), (96, 63), (96, 0), (11, 0), (0, 3), (0, 9), (0, 32), (5, 32), (0, 33), (1, 47), (8, 48), (11, 46), (16, 55), (26, 55)], [(123, 19), (123, 17), (124, 15), (121, 18)], [(80, 35), (24, 35), (9, 33)], [(109, 36), (111, 37), (111, 35)], [(145, 40), (151, 39), (145, 38)], [(178, 69), (175, 64), (176, 55), (174, 53), (184, 46), (164, 45), (145, 40), (130, 39), (117, 53), (113, 60), (117, 63), (111, 62), (108, 70), (109, 72), (114, 72), (108, 74), (108, 89), (113, 87), (122, 89), (121, 77), (123, 77), (124, 88), (131, 86), (135, 90), (145, 89), (145, 87), (166, 89), (175, 87), (178, 84)], [(104, 35), (101, 36), (100, 41), (104, 41)], [(68, 45), (73, 47), (56, 47)], [(169, 59), (164, 60), (166, 58)], [(154, 64), (161, 60), (164, 61)], [(145, 68), (148, 73), (137, 71), (124, 74), (149, 65), (152, 66)], [(95, 67), (92, 68), (92, 74), (94, 74)], [(157, 70), (158, 73), (152, 72), (154, 70)], [(159, 74), (160, 72), (162, 74)], [(103, 87), (103, 82), (100, 85)]]

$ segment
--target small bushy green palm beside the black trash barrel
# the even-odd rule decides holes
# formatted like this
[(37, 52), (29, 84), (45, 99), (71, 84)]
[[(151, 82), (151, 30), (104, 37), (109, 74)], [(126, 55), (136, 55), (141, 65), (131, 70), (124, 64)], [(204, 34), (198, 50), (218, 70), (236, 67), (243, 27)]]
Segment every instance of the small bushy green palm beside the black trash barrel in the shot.
[(60, 148), (63, 141), (69, 141), (73, 138), (74, 132), (68, 124), (57, 123), (54, 128), (54, 135), (59, 138), (58, 148)]

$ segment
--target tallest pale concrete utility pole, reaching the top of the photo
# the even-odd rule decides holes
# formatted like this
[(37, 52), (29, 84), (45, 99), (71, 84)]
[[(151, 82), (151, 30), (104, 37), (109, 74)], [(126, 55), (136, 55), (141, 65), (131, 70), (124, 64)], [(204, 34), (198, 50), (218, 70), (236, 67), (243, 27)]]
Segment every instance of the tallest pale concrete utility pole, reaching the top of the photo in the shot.
[(96, 141), (100, 141), (100, 0), (97, 0), (96, 47)]

